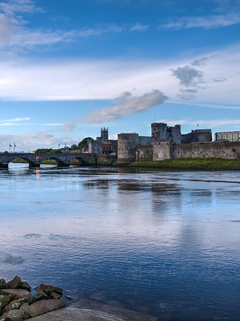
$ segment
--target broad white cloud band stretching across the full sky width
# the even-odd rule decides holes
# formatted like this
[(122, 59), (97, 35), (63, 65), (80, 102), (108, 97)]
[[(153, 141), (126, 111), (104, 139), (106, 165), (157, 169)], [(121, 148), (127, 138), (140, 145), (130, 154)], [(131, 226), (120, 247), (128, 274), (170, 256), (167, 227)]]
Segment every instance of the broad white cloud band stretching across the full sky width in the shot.
[[(205, 53), (202, 57), (208, 57), (208, 60), (205, 66), (199, 67), (201, 70), (189, 67), (204, 73), (206, 88), (204, 90), (198, 88), (195, 102), (214, 105), (237, 104), (240, 99), (239, 47)], [(161, 91), (174, 101), (178, 97), (181, 86), (180, 79), (172, 77), (170, 69), (178, 70), (178, 68), (184, 68), (182, 66), (191, 66), (191, 62), (202, 57), (186, 57), (164, 62), (120, 59), (71, 61), (18, 59), (14, 64), (12, 61), (2, 59), (0, 61), (0, 99), (113, 100), (119, 96), (120, 92), (128, 92), (130, 88), (135, 88), (135, 96), (141, 96), (152, 88), (161, 88)], [(200, 78), (195, 77), (190, 80), (187, 78), (187, 82), (191, 83)], [(212, 79), (224, 78), (227, 81), (212, 81)], [(186, 83), (186, 80), (182, 79)], [(185, 86), (182, 89), (196, 88)], [(86, 104), (86, 110), (91, 111), (91, 108), (92, 106)]]

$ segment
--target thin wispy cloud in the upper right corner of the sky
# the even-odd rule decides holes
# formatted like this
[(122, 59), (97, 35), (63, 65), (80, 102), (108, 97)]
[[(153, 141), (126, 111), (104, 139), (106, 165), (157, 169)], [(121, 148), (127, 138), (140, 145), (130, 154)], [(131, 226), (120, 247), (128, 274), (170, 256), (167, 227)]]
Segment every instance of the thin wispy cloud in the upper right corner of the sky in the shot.
[(187, 16), (181, 17), (174, 22), (159, 26), (160, 28), (171, 29), (188, 29), (188, 28), (219, 28), (232, 24), (240, 23), (240, 15), (238, 13), (228, 13), (225, 15), (209, 15), (209, 16)]

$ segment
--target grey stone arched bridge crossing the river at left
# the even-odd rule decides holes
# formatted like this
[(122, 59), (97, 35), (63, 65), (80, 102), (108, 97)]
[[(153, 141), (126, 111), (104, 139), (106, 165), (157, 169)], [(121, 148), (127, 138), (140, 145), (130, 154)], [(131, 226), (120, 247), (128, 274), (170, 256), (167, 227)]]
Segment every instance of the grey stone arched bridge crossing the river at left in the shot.
[(0, 154), (0, 168), (8, 168), (8, 164), (21, 158), (28, 162), (29, 167), (40, 167), (40, 163), (50, 158), (57, 162), (57, 166), (69, 166), (71, 160), (76, 159), (82, 162), (83, 165), (97, 165), (97, 155), (88, 153), (46, 153), (46, 154), (34, 154), (34, 153), (9, 153)]

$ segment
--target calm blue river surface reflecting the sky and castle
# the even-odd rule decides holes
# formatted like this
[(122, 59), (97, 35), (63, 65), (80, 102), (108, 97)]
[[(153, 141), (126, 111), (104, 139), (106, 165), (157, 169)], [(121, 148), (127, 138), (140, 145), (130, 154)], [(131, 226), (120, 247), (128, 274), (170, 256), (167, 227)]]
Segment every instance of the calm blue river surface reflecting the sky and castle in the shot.
[(0, 170), (0, 278), (159, 320), (240, 320), (240, 171)]

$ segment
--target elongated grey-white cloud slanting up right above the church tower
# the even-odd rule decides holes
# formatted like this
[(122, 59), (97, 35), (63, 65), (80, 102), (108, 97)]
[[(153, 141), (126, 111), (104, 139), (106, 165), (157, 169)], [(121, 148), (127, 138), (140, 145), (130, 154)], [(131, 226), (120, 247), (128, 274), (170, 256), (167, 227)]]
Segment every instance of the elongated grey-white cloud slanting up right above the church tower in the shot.
[(125, 115), (139, 113), (149, 108), (162, 105), (168, 97), (160, 90), (152, 90), (140, 97), (131, 97), (127, 102), (110, 108), (103, 108), (82, 117), (88, 123), (101, 123), (112, 119), (120, 119)]

